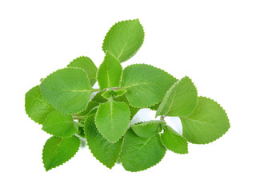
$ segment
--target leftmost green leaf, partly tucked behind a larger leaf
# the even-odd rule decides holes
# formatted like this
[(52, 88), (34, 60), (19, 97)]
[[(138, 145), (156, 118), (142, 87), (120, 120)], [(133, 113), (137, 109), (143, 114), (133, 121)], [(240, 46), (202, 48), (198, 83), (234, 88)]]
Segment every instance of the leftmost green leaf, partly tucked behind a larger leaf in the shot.
[(26, 114), (34, 121), (42, 124), (48, 114), (54, 110), (42, 96), (39, 86), (34, 86), (25, 95)]

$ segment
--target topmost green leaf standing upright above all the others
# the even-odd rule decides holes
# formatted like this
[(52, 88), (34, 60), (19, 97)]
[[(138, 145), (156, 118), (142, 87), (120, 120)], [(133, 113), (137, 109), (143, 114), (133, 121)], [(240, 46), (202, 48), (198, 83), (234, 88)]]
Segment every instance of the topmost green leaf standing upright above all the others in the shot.
[(102, 50), (125, 62), (137, 53), (143, 41), (144, 31), (138, 19), (118, 22), (106, 34)]

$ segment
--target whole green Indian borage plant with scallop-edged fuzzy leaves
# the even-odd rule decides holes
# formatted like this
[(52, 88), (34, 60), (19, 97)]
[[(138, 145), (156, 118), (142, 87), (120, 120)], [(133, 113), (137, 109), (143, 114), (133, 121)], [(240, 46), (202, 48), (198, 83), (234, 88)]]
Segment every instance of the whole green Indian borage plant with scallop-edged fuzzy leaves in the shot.
[[(121, 62), (138, 51), (143, 39), (138, 19), (118, 22), (106, 34), (106, 56), (98, 69), (90, 58), (76, 58), (26, 93), (26, 114), (53, 135), (42, 151), (46, 170), (72, 158), (82, 138), (108, 168), (122, 162), (126, 170), (139, 171), (160, 162), (166, 150), (187, 154), (188, 142), (214, 142), (229, 129), (225, 110), (198, 97), (190, 78), (178, 80), (146, 64), (122, 69)], [(92, 88), (96, 81), (99, 89)], [(156, 110), (161, 120), (129, 127), (142, 108)], [(182, 135), (166, 124), (166, 116), (181, 119)]]

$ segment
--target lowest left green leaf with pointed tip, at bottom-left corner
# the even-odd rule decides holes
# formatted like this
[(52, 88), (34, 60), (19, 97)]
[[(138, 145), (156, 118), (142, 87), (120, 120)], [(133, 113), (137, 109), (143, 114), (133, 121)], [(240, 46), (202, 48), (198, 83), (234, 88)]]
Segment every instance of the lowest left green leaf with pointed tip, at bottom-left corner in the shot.
[(46, 171), (61, 166), (64, 162), (74, 157), (80, 146), (79, 138), (51, 137), (46, 141), (42, 150), (42, 162)]

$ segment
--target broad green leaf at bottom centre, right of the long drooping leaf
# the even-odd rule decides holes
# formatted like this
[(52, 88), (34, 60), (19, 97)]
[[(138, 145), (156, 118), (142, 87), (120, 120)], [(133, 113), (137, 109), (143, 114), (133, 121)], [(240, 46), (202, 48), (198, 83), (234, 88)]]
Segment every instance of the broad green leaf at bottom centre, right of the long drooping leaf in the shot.
[(120, 159), (125, 170), (139, 171), (156, 165), (165, 154), (166, 149), (159, 134), (152, 138), (141, 138), (129, 129), (124, 138)]

